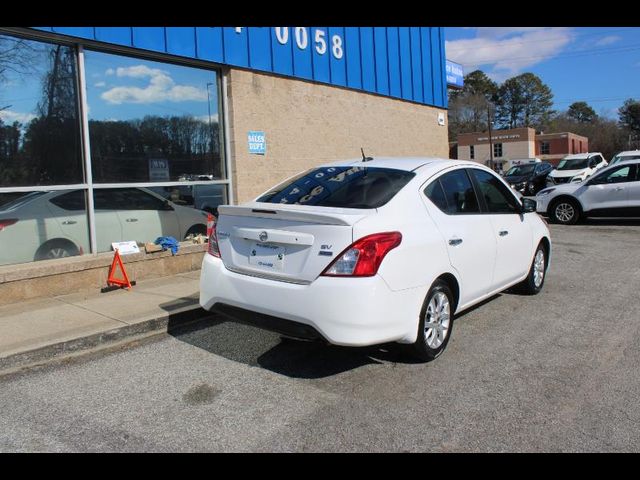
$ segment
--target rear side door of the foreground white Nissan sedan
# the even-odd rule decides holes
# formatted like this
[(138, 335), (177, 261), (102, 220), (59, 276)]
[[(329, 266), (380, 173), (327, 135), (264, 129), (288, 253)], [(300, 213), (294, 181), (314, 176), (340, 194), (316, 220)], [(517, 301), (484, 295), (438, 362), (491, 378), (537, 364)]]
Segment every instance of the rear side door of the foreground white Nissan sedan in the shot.
[(465, 169), (449, 171), (424, 188), (429, 213), (444, 238), (449, 261), (460, 279), (460, 302), (466, 305), (489, 292), (496, 255), (491, 222), (482, 215)]

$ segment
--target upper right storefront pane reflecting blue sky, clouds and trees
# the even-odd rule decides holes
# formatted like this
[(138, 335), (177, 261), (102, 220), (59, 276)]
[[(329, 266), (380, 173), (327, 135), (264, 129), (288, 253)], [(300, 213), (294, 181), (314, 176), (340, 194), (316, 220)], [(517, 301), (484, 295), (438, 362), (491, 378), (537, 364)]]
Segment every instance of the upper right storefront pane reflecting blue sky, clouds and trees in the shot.
[(213, 70), (85, 53), (96, 183), (222, 179)]

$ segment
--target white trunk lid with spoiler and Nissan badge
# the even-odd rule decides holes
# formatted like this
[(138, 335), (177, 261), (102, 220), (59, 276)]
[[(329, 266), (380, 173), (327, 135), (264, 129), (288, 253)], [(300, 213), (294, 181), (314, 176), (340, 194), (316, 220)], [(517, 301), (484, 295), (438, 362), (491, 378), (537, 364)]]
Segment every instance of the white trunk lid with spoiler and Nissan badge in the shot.
[(308, 284), (349, 245), (375, 209), (250, 203), (218, 207), (218, 244), (231, 271)]

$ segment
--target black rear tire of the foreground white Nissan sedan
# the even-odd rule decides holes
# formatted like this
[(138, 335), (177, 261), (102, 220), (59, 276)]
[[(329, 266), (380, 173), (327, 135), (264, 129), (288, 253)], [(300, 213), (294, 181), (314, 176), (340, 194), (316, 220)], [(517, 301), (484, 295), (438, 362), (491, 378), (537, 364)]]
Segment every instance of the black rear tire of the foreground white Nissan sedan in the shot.
[[(430, 317), (433, 312), (433, 309), (430, 308), (430, 304), (433, 307), (433, 304), (432, 304), (432, 301), (433, 301), (437, 306), (438, 299), (442, 299), (441, 294), (444, 294), (446, 296), (446, 299), (448, 302), (448, 310), (449, 310), (448, 324), (446, 326), (447, 328), (446, 328), (446, 331), (444, 332), (444, 339), (442, 340), (442, 342), (437, 346), (433, 346), (432, 342), (434, 339), (433, 335), (436, 334), (435, 331), (438, 331), (438, 330), (442, 331), (442, 330), (435, 329), (435, 328), (427, 329), (425, 328), (425, 323), (426, 323), (427, 317)], [(451, 338), (451, 332), (453, 330), (454, 309), (455, 309), (455, 301), (454, 301), (453, 294), (451, 293), (451, 290), (449, 289), (448, 285), (442, 280), (436, 280), (436, 282), (431, 286), (431, 289), (429, 290), (429, 293), (427, 294), (427, 297), (424, 300), (424, 304), (422, 305), (422, 309), (420, 310), (420, 319), (418, 322), (418, 338), (416, 342), (411, 346), (412, 354), (414, 357), (416, 357), (417, 359), (423, 362), (429, 362), (431, 360), (436, 359), (442, 354), (442, 352), (444, 352), (445, 348), (447, 348), (449, 339)], [(432, 318), (429, 318), (429, 319), (431, 320)], [(433, 321), (434, 323), (440, 323), (441, 325), (444, 325), (444, 322), (441, 323), (440, 319), (442, 319), (442, 317), (439, 317), (439, 318), (436, 317), (433, 319)]]

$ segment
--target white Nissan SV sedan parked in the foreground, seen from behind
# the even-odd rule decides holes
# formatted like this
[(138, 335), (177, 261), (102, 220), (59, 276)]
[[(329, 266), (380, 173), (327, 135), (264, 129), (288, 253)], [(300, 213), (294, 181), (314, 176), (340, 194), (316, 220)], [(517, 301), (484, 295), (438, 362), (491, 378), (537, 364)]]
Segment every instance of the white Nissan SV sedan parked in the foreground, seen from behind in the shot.
[(411, 344), (430, 360), (454, 314), (514, 285), (540, 291), (551, 243), (533, 201), (474, 162), (367, 160), (220, 206), (201, 306), (297, 338)]

